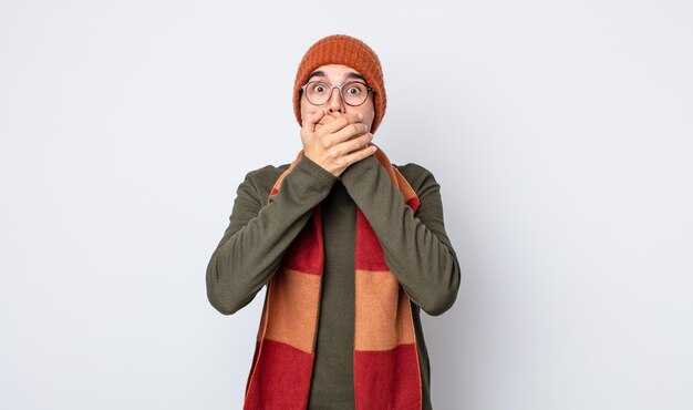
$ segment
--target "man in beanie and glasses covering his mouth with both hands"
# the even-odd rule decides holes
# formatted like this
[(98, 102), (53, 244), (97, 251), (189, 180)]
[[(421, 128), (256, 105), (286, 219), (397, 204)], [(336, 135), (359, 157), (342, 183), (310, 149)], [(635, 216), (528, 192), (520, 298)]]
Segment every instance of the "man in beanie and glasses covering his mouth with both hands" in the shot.
[(318, 41), (294, 83), (303, 150), (238, 187), (207, 294), (231, 315), (267, 285), (245, 409), (432, 408), (420, 309), (451, 308), (459, 265), (431, 172), (371, 143), (385, 106), (371, 48)]

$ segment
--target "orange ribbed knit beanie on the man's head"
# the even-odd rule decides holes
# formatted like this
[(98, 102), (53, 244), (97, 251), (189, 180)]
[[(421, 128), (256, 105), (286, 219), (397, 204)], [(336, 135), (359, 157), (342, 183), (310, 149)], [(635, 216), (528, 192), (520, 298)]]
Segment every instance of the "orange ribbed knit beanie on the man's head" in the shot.
[(308, 49), (299, 64), (293, 83), (293, 113), (301, 122), (300, 93), (301, 85), (308, 82), (308, 76), (319, 66), (325, 64), (342, 64), (356, 70), (374, 92), (375, 116), (371, 132), (375, 133), (377, 125), (385, 115), (387, 98), (383, 83), (383, 70), (375, 52), (363, 41), (353, 37), (334, 34), (318, 40)]

